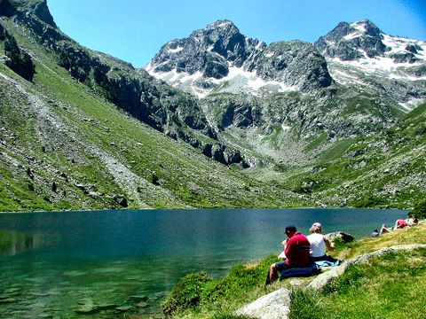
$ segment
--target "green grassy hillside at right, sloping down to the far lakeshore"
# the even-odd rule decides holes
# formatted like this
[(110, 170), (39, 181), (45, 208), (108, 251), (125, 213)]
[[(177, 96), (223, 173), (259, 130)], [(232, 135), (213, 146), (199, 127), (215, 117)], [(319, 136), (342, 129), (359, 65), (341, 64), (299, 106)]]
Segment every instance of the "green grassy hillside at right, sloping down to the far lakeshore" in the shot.
[(327, 206), (413, 207), (426, 193), (425, 123), (422, 104), (380, 133), (322, 144), (310, 165), (248, 173)]

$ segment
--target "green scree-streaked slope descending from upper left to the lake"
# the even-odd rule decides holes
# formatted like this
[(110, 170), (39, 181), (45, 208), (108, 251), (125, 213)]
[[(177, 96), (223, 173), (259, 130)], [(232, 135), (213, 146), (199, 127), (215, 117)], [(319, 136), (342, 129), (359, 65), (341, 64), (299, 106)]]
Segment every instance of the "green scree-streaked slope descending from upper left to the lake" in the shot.
[[(3, 0), (2, 5), (5, 3)], [(34, 81), (28, 82), (0, 63), (0, 211), (306, 203), (288, 191), (256, 182), (209, 160), (188, 144), (146, 126), (138, 116), (130, 116), (130, 110), (123, 112), (108, 102), (100, 85), (88, 83), (91, 74), (82, 81), (86, 72), (83, 68), (73, 69), (75, 64), (71, 69), (63, 67), (63, 59), (70, 55), (60, 56), (56, 49), (66, 46), (69, 39), (66, 43), (55, 40), (65, 39), (65, 35), (46, 27), (43, 20), (32, 15), (33, 11), (22, 24), (22, 7), (17, 2), (10, 4), (15, 11), (11, 9), (10, 17), (1, 17), (0, 24), (16, 39), (20, 50), (32, 58), (36, 74)], [(34, 36), (36, 31), (28, 28), (40, 23), (49, 45), (40, 43), (40, 38)], [(90, 53), (80, 51), (76, 44), (67, 48), (75, 57)], [(0, 52), (3, 49), (4, 41), (0, 41)], [(99, 54), (99, 66), (113, 62), (116, 73), (126, 72), (125, 64)], [(131, 75), (117, 79), (125, 82), (133, 76), (139, 80), (130, 66), (127, 68)], [(73, 72), (80, 77), (70, 76)], [(151, 85), (152, 90), (157, 85), (164, 87), (147, 76), (142, 83)], [(173, 92), (169, 89), (166, 98), (180, 96)], [(147, 106), (153, 107), (154, 102)], [(182, 119), (186, 115), (183, 113)]]

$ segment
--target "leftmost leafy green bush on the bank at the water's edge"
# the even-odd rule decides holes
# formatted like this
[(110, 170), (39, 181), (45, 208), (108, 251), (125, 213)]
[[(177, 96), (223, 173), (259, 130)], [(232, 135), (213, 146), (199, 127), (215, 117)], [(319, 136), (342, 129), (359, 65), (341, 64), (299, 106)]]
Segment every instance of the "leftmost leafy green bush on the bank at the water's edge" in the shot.
[(172, 315), (177, 311), (197, 307), (205, 284), (212, 280), (212, 277), (203, 272), (186, 275), (162, 302), (162, 312), (165, 315)]

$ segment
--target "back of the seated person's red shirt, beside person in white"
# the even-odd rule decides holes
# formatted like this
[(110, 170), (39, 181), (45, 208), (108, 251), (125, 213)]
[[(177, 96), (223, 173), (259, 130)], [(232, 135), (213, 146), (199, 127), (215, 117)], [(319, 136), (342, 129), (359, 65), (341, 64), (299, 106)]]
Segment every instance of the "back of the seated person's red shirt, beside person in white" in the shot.
[(311, 261), (311, 244), (306, 236), (296, 232), (287, 241), (286, 256), (289, 267), (308, 267)]

